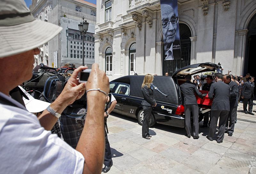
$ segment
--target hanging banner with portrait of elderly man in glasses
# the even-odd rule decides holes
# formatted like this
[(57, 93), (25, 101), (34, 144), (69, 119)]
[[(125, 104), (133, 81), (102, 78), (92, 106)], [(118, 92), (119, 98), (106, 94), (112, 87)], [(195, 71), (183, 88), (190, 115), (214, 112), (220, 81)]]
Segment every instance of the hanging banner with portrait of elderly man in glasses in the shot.
[(177, 0), (160, 0), (164, 36), (164, 60), (181, 59)]

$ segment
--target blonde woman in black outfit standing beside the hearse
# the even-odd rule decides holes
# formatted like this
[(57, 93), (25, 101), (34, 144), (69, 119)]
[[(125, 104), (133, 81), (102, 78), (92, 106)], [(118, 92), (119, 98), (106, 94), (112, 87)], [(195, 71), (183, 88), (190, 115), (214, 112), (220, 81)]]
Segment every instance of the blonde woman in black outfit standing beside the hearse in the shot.
[(144, 118), (142, 122), (142, 137), (146, 139), (150, 139), (151, 135), (148, 133), (149, 127), (149, 119), (152, 111), (152, 107), (156, 107), (156, 100), (153, 96), (153, 87), (150, 83), (153, 82), (154, 76), (151, 74), (147, 74), (144, 77), (143, 83), (141, 85), (141, 91), (144, 97), (141, 105), (144, 111)]

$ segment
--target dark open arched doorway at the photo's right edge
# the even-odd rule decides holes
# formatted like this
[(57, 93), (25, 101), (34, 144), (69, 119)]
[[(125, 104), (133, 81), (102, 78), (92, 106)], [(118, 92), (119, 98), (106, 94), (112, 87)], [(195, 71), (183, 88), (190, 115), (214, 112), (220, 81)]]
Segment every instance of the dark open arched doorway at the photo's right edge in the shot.
[[(256, 48), (256, 14), (252, 17), (247, 27), (247, 43), (244, 59), (244, 74), (247, 72), (252, 76), (256, 76), (255, 73), (255, 48)], [(254, 89), (255, 94), (256, 89)]]

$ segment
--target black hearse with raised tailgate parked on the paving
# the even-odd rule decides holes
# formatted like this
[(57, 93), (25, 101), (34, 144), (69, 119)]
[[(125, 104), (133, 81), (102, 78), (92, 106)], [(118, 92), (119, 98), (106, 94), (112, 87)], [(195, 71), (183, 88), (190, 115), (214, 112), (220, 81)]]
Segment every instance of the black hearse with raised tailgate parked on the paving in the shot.
[[(172, 77), (154, 76), (153, 85), (168, 96), (166, 97), (154, 90), (157, 106), (155, 108), (153, 107), (149, 126), (160, 123), (175, 127), (185, 127), (184, 106), (182, 105), (182, 95), (179, 85), (185, 82), (184, 77), (187, 74), (194, 75), (202, 72), (214, 72), (218, 67), (214, 63), (206, 62), (180, 68)], [(110, 82), (110, 89), (117, 101), (113, 111), (137, 118), (141, 125), (143, 121), (143, 110), (141, 106), (143, 100), (141, 84), (143, 79), (144, 75), (127, 75)], [(209, 111), (209, 108), (200, 108), (200, 110), (203, 113)]]

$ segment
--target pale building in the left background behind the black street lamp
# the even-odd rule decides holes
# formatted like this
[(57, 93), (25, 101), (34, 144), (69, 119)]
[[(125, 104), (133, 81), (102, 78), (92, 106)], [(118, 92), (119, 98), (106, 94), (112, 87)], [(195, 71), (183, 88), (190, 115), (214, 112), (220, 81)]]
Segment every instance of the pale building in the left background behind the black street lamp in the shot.
[(61, 33), (40, 48), (35, 57), (35, 66), (44, 63), (49, 67), (61, 67), (65, 63), (82, 65), (83, 36), (78, 24), (84, 19), (89, 28), (84, 38), (84, 64), (94, 63), (94, 37), (96, 23), (96, 5), (84, 0), (32, 0), (30, 10), (39, 20), (54, 23), (63, 28)]

